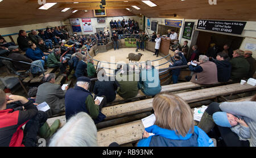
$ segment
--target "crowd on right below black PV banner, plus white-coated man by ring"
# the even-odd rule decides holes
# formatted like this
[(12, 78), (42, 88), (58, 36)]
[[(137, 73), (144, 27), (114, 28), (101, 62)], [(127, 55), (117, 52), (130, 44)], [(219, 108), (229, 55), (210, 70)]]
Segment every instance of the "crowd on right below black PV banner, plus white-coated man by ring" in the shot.
[[(160, 41), (160, 38), (158, 38)], [(156, 44), (158, 43), (156, 39)], [(191, 76), (186, 76), (187, 81), (196, 84), (214, 84), (217, 82), (240, 82), (241, 79), (253, 78), (256, 70), (256, 60), (252, 57), (253, 52), (249, 50), (232, 50), (229, 45), (224, 45), (222, 51), (211, 44), (205, 54), (200, 53), (197, 45), (192, 46), (192, 53), (188, 57), (188, 41), (180, 46), (177, 40), (170, 46), (174, 51), (174, 61), (169, 67), (188, 65)], [(157, 54), (157, 49), (156, 53)], [(231, 54), (231, 55), (230, 55)], [(172, 81), (177, 83), (181, 69), (172, 70)]]

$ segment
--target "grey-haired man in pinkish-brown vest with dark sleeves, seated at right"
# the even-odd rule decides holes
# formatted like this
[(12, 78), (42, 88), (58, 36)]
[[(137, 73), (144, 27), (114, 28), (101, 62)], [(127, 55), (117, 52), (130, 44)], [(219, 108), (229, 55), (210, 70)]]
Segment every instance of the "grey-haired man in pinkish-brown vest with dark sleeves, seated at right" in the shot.
[(214, 62), (210, 62), (206, 55), (199, 56), (199, 62), (193, 61), (197, 66), (188, 63), (189, 70), (193, 71), (191, 82), (196, 84), (214, 84), (218, 82), (217, 66)]

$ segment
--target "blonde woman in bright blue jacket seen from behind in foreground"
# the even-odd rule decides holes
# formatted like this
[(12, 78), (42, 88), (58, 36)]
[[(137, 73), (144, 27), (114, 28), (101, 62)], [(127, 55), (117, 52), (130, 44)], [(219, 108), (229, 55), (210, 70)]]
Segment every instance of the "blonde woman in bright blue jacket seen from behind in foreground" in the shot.
[(194, 126), (193, 112), (179, 96), (162, 93), (155, 96), (152, 104), (156, 121), (153, 126), (145, 129), (138, 147), (214, 146), (212, 139)]

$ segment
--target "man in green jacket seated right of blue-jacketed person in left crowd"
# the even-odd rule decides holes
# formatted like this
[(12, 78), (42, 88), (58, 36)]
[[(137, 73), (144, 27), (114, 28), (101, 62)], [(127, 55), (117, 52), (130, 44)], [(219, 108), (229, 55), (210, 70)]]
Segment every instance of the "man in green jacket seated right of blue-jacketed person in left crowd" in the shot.
[[(62, 62), (60, 62), (60, 53), (61, 53), (61, 50), (59, 48), (57, 48), (54, 50), (53, 53), (49, 54), (48, 59), (47, 59), (47, 66), (49, 68), (59, 67), (60, 74), (63, 74), (66, 69), (67, 59), (64, 59), (64, 60), (62, 60)], [(65, 74), (63, 74), (63, 75), (65, 75)]]

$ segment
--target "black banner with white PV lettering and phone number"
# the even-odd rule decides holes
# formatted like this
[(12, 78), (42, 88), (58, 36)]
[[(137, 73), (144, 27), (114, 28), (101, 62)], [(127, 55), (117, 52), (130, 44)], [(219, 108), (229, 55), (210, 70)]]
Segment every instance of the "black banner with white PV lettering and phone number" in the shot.
[(246, 22), (198, 20), (197, 29), (241, 35)]

